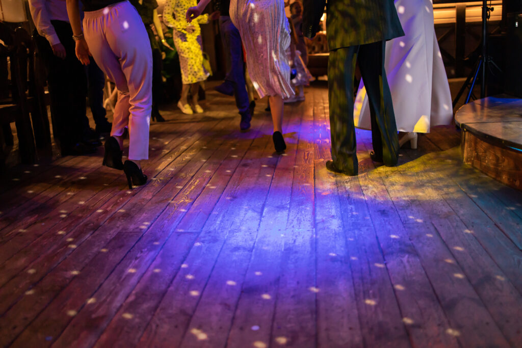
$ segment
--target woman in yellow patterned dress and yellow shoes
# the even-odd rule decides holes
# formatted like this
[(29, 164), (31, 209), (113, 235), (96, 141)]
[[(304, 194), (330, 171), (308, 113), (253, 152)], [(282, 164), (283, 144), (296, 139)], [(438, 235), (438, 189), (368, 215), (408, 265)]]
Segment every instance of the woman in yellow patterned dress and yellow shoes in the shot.
[[(219, 18), (219, 12), (202, 15), (192, 23), (187, 23), (185, 13), (189, 7), (196, 6), (196, 0), (167, 0), (163, 10), (163, 22), (173, 28), (174, 45), (180, 57), (181, 79), (183, 87), (177, 107), (188, 115), (202, 113), (198, 104), (199, 82), (205, 81), (209, 75), (203, 66), (203, 50), (201, 44), (200, 24)], [(188, 103), (188, 93), (191, 92), (192, 109)]]

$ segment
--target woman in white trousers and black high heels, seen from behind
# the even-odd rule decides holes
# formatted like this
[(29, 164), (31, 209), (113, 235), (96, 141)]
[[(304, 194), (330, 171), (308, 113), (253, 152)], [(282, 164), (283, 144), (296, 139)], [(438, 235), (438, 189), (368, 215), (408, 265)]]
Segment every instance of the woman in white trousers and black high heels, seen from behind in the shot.
[[(143, 185), (147, 176), (141, 160), (148, 159), (152, 106), (152, 51), (138, 12), (128, 1), (82, 0), (85, 17), (80, 24), (78, 0), (67, 0), (67, 13), (76, 40), (76, 56), (83, 64), (89, 55), (114, 81), (118, 99), (111, 137), (105, 141), (103, 164), (123, 169), (129, 189)], [(123, 135), (129, 133), (128, 160), (122, 163)]]

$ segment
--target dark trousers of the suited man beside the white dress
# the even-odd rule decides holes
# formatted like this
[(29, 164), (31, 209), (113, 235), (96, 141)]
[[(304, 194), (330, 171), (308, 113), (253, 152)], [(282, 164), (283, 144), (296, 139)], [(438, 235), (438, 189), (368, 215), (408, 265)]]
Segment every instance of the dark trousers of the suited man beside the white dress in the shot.
[(343, 47), (328, 58), (328, 101), (330, 105), (331, 157), (346, 172), (358, 174), (357, 143), (353, 125), (353, 75), (359, 63), (368, 94), (372, 121), (373, 150), (384, 164), (396, 165), (399, 140), (386, 71), (385, 42)]

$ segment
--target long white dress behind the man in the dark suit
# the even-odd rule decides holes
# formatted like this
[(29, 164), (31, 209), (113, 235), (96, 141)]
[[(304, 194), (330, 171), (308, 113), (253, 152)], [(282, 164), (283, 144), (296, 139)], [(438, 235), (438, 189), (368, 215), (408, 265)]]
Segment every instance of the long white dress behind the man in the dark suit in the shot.
[[(386, 43), (385, 69), (397, 129), (429, 133), (453, 119), (448, 79), (438, 48), (430, 0), (395, 0), (406, 36)], [(355, 127), (371, 129), (370, 107), (361, 81), (354, 103)]]

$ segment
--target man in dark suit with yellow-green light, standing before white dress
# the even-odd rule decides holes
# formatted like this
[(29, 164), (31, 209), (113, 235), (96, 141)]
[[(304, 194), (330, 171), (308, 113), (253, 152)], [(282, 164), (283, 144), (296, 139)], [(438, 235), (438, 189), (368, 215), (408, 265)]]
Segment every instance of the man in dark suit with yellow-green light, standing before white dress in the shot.
[[(309, 38), (319, 30), (326, 0), (304, 0), (303, 31)], [(328, 101), (331, 158), (328, 170), (357, 175), (359, 164), (353, 125), (353, 75), (359, 63), (372, 119), (375, 162), (394, 166), (399, 156), (397, 126), (386, 71), (387, 40), (404, 35), (393, 0), (328, 0)]]

